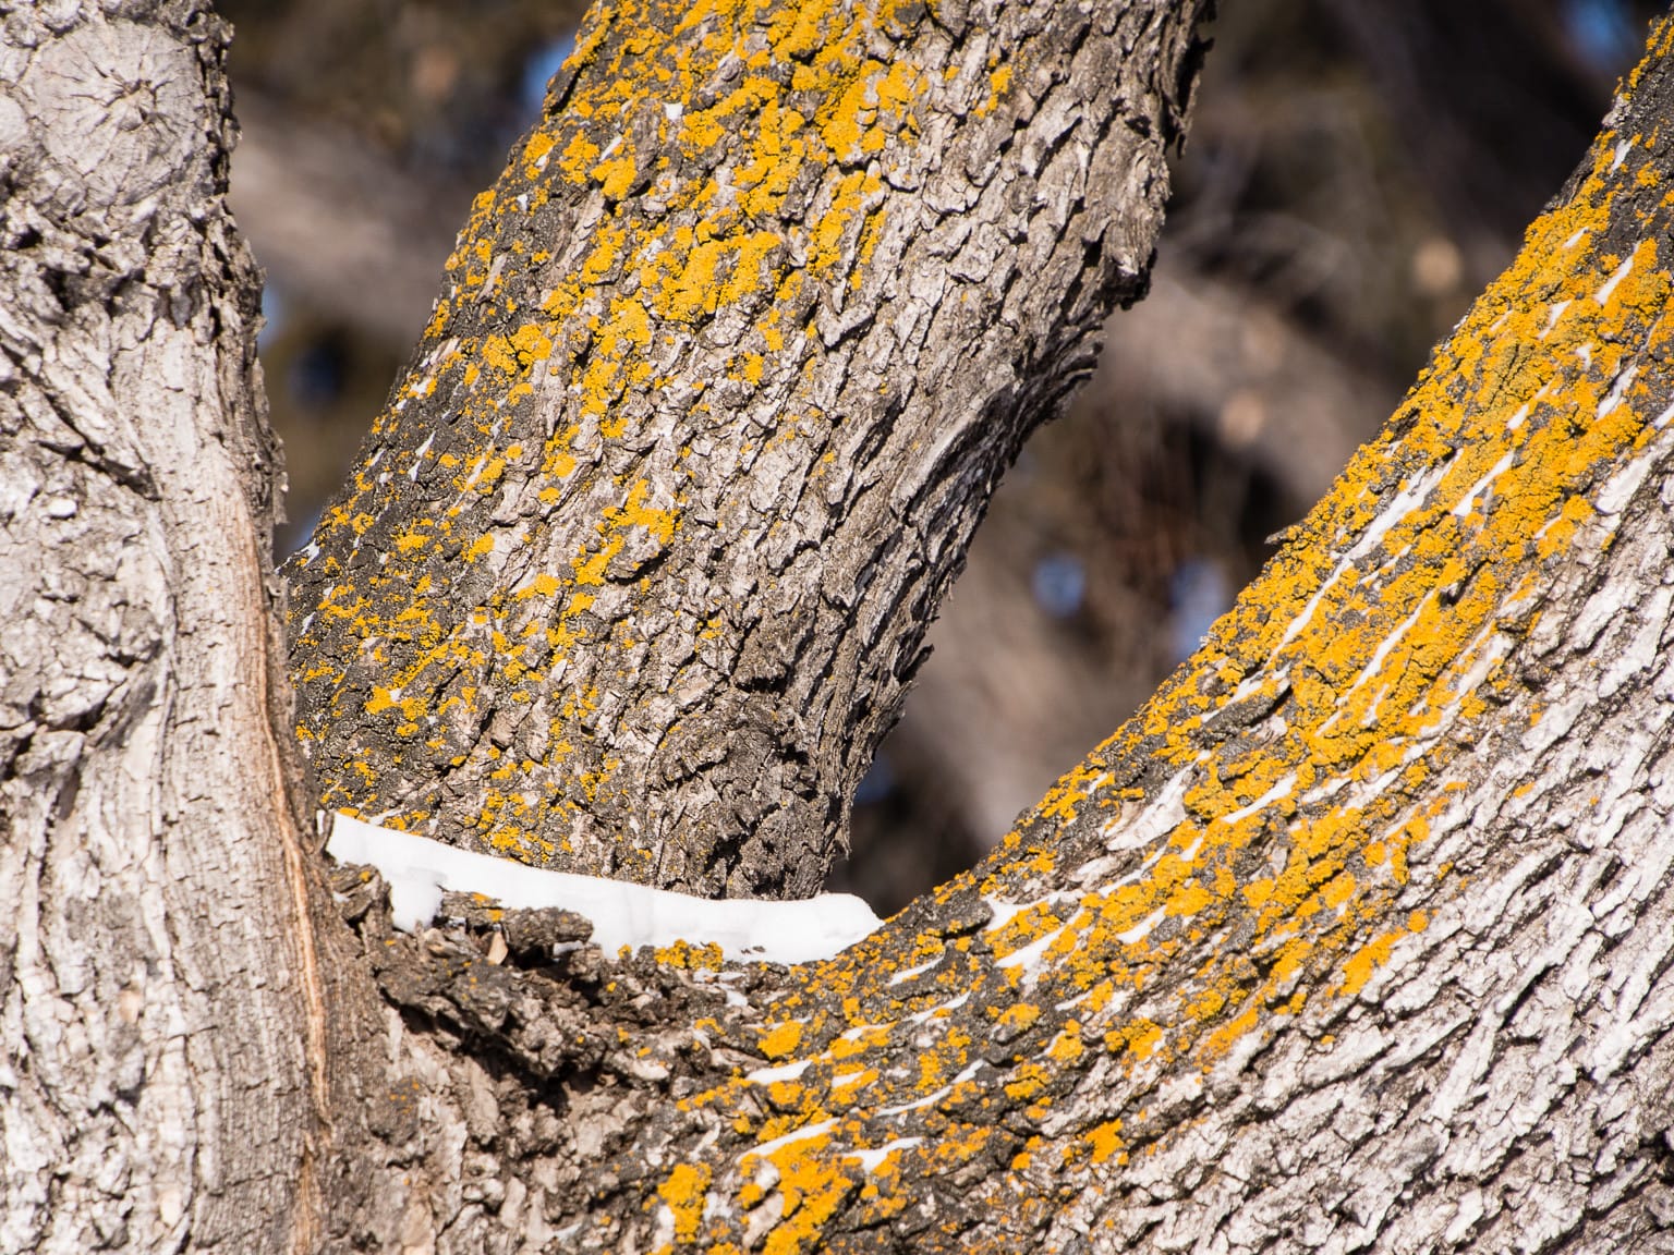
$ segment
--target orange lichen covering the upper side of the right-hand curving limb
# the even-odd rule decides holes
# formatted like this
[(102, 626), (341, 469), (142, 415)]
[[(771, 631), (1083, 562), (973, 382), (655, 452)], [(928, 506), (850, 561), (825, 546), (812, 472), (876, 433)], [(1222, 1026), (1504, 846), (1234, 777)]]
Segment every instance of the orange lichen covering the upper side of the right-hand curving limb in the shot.
[[(946, 991), (989, 1009), (978, 1022), (1016, 1042), (1011, 1058), (968, 1071), (968, 1044), (936, 1036), (934, 999), (891, 1001), (892, 971), (860, 947), (814, 981), (842, 986), (849, 1024), (889, 1006), (927, 1036), (902, 1069), (889, 1026), (845, 1039), (810, 1024), (792, 1054), (829, 1051), (869, 1079), (842, 1086), (840, 1106), (827, 1091), (800, 1094), (797, 1119), (825, 1118), (820, 1103), (845, 1121), (924, 1113), (912, 1128), (946, 1135), (921, 1155), (936, 1171), (973, 1136), (949, 1114), (966, 1091), (1040, 1121), (1063, 1078), (1093, 1059), (1135, 1084), (1182, 1063), (1214, 1068), (1257, 1048), (1276, 1017), (1368, 994), (1399, 947), (1421, 944), (1431, 909), (1404, 897), (1455, 878), (1410, 867), (1463, 786), (1453, 756), (1473, 723), (1520, 699), (1503, 663), (1528, 631), (1530, 572), (1592, 534), (1590, 494), (1666, 405), (1647, 383), (1649, 363), (1674, 348), (1659, 321), (1671, 281), (1656, 233), (1619, 251), (1605, 243), (1615, 197), (1642, 184), (1634, 162), (1654, 156), (1642, 141), (1615, 171), (1605, 137), (1574, 201), (1532, 228), (1302, 542), (979, 875), (937, 894), (1004, 907), (981, 947), (932, 934), (892, 944), (899, 969), (947, 952)], [(1234, 703), (1274, 716), (1234, 720)], [(1135, 797), (1140, 770), (1150, 786)], [(1170, 788), (1177, 808), (1158, 802)], [(1157, 827), (1125, 847), (1147, 807)], [(1066, 828), (1101, 830), (1132, 862), (1113, 860), (1096, 884), (1060, 875), (1041, 853)], [(1135, 1119), (1143, 1113), (1108, 1111), (1056, 1148), (1076, 1168), (1120, 1168)], [(1004, 1161), (1038, 1171), (1045, 1145), (1011, 1143)]]

